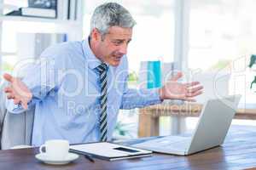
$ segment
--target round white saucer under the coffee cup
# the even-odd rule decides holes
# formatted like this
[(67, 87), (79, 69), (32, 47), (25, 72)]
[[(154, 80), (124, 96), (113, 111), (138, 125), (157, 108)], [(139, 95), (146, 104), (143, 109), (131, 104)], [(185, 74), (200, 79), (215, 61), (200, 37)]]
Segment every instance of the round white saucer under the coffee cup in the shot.
[(44, 163), (52, 164), (52, 165), (65, 165), (69, 163), (70, 161), (74, 161), (79, 158), (79, 155), (73, 154), (73, 153), (68, 153), (67, 157), (64, 160), (56, 161), (56, 160), (51, 160), (48, 158), (48, 156), (45, 153), (40, 153), (36, 155), (36, 158), (39, 161), (44, 161)]

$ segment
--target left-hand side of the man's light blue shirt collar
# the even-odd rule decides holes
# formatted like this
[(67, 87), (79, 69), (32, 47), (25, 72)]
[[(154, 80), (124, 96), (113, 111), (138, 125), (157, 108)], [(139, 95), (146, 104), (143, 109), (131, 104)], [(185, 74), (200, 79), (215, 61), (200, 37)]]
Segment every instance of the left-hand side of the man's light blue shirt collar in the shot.
[(102, 61), (100, 59), (97, 59), (95, 54), (93, 54), (93, 52), (91, 51), (89, 41), (90, 41), (90, 37), (85, 39), (82, 45), (83, 45), (85, 58), (88, 61), (88, 66), (91, 70), (94, 70), (97, 66), (102, 64)]

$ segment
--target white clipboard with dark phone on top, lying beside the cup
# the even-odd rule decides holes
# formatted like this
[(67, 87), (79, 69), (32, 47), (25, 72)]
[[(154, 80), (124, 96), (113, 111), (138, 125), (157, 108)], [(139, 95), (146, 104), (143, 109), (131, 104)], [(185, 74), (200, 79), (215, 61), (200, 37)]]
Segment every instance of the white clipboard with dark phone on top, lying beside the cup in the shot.
[(75, 144), (71, 145), (69, 150), (79, 154), (89, 154), (108, 161), (152, 156), (152, 151), (149, 150), (141, 150), (108, 142)]

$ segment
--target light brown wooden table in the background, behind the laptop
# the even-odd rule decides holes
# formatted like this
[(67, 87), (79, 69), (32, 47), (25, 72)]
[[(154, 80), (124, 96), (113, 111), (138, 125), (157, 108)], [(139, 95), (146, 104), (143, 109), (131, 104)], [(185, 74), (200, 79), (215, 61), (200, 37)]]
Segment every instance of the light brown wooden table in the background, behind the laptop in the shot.
[[(159, 136), (159, 117), (172, 116), (174, 118), (181, 118), (186, 116), (200, 116), (202, 105), (152, 105), (140, 109), (139, 111), (139, 125), (138, 136), (149, 137)], [(240, 109), (236, 111), (236, 119), (250, 119), (256, 120), (256, 110), (254, 109)]]

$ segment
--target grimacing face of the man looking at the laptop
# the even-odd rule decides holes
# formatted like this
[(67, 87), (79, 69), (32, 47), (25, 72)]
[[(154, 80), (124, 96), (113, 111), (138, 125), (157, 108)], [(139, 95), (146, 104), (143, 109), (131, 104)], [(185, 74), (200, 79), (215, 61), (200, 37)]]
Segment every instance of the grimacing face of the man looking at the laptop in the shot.
[(132, 29), (112, 26), (103, 39), (97, 40), (98, 57), (112, 66), (118, 66), (121, 58), (127, 53), (129, 42), (131, 42)]

